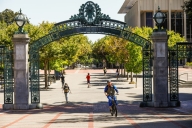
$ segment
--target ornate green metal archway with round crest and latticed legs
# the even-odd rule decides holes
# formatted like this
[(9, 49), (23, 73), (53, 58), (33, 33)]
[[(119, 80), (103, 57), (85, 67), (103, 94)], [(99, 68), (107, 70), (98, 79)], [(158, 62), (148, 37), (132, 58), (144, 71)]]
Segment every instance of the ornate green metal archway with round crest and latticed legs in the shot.
[(88, 1), (79, 9), (79, 14), (70, 20), (56, 23), (49, 34), (34, 41), (29, 49), (31, 103), (40, 103), (39, 49), (63, 37), (77, 34), (105, 34), (131, 41), (143, 48), (143, 102), (152, 101), (151, 42), (125, 30), (126, 23), (110, 19), (101, 13), (98, 4)]

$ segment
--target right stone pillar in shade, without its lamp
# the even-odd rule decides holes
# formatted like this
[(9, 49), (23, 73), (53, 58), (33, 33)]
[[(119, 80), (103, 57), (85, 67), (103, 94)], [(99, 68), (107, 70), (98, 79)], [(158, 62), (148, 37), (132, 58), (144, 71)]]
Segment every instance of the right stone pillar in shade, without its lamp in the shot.
[(168, 36), (166, 32), (153, 32), (153, 105), (168, 107)]

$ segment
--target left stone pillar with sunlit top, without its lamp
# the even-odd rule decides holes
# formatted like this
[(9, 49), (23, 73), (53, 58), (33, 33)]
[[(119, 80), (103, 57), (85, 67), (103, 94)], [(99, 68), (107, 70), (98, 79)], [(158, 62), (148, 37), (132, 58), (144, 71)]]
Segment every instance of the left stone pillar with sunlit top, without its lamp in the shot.
[(29, 109), (29, 68), (27, 34), (15, 34), (14, 43), (14, 109)]

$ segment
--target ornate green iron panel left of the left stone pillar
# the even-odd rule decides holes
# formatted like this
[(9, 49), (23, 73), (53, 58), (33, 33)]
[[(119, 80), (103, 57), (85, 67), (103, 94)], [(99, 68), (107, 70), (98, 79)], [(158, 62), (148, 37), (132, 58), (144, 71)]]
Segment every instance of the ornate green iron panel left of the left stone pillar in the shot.
[(13, 51), (5, 46), (0, 46), (0, 70), (4, 104), (13, 104)]

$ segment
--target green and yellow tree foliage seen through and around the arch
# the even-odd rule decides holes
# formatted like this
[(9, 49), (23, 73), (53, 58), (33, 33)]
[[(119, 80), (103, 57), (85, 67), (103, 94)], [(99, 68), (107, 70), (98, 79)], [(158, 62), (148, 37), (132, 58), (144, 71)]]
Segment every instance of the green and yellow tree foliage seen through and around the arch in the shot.
[[(0, 45), (13, 48), (12, 37), (18, 29), (13, 22), (16, 14), (9, 9), (0, 13)], [(188, 14), (190, 15), (190, 11)], [(29, 47), (35, 40), (47, 35), (53, 26), (54, 23), (44, 21), (39, 25), (28, 22), (24, 26), (24, 30), (30, 37)], [(147, 40), (150, 40), (153, 32), (153, 28), (150, 27), (126, 29)], [(169, 35), (168, 47), (170, 49), (174, 47), (176, 42), (186, 41), (184, 37), (174, 31), (167, 31), (167, 34)], [(139, 73), (142, 71), (142, 47), (115, 36), (105, 36), (95, 43), (89, 41), (87, 36), (82, 34), (64, 37), (42, 47), (39, 50), (39, 55), (40, 68), (44, 69), (45, 72), (50, 69), (63, 71), (65, 66), (75, 67), (77, 63), (102, 63), (103, 60), (107, 61), (108, 64), (125, 65), (128, 72)]]

